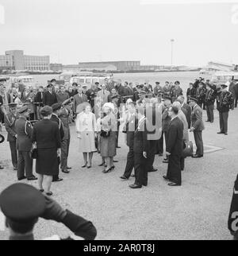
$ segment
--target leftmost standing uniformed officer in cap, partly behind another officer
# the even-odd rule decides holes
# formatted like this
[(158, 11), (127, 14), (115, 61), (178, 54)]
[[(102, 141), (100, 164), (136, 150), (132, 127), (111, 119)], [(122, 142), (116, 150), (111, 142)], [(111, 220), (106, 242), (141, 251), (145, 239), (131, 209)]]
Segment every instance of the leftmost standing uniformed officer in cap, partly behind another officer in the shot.
[(13, 169), (17, 171), (17, 133), (15, 123), (18, 118), (17, 103), (10, 103), (10, 113), (5, 115), (4, 122), (7, 131), (7, 141), (10, 144)]

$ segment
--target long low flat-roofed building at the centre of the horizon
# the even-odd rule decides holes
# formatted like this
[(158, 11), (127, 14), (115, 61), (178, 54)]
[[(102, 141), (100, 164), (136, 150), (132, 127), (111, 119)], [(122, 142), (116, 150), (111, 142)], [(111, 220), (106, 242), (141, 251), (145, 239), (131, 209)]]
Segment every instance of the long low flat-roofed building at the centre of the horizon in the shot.
[[(103, 66), (102, 66), (103, 65)], [(79, 62), (79, 68), (113, 68), (116, 67), (118, 71), (129, 71), (140, 66), (140, 61), (102, 61), (102, 62)], [(114, 70), (114, 69), (113, 69)], [(112, 71), (113, 71), (112, 70)]]

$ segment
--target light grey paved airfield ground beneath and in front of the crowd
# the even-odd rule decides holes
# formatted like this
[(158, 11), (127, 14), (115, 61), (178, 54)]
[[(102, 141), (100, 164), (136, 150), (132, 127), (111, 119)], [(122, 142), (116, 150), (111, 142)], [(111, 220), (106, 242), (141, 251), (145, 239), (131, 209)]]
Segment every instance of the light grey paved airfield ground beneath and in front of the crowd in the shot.
[[(98, 154), (94, 156), (93, 169), (81, 169), (83, 157), (77, 153), (72, 127), (69, 163), (73, 171), (62, 175), (63, 183), (53, 184), (53, 198), (63, 207), (90, 219), (98, 229), (97, 239), (231, 239), (227, 219), (237, 174), (237, 115), (237, 109), (230, 112), (228, 137), (217, 134), (217, 113), (215, 122), (206, 124), (205, 150), (218, 151), (205, 153), (202, 159), (187, 159), (181, 188), (167, 186), (162, 178), (167, 165), (162, 164), (162, 157), (156, 157), (155, 167), (159, 172), (149, 174), (148, 188), (129, 189), (133, 180), (119, 179), (128, 151), (122, 134), (122, 147), (117, 154), (120, 162), (113, 173), (103, 174), (97, 167), (101, 163)], [(2, 189), (17, 180), (6, 143), (0, 145), (0, 157), (7, 165), (0, 173)], [(36, 239), (71, 235), (63, 225), (44, 220), (37, 224), (35, 233)], [(0, 232), (0, 239), (7, 239), (7, 232)]]

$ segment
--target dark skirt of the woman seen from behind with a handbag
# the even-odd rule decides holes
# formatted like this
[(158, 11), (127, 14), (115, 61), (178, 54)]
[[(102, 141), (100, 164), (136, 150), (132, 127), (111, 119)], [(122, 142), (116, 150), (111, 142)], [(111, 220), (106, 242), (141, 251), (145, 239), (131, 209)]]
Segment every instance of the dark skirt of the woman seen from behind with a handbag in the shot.
[(59, 173), (57, 149), (37, 149), (36, 173), (54, 176)]

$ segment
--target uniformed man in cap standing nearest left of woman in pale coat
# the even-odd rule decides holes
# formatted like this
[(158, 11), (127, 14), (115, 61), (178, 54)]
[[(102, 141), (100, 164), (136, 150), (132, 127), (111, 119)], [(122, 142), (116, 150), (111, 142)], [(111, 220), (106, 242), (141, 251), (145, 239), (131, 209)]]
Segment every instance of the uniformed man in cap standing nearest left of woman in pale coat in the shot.
[(71, 167), (67, 166), (67, 158), (69, 153), (69, 146), (71, 142), (71, 131), (70, 131), (70, 111), (71, 111), (71, 99), (67, 99), (63, 103), (63, 109), (59, 114), (59, 118), (63, 125), (63, 140), (61, 142), (61, 170), (63, 173), (70, 173)]

